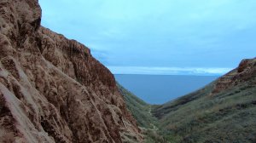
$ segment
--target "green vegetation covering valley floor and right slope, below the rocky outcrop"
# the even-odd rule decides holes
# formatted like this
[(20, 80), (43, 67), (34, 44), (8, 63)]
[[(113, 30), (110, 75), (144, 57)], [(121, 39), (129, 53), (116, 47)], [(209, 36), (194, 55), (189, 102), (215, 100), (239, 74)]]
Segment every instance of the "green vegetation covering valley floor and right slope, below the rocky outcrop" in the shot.
[(256, 76), (218, 94), (214, 86), (160, 106), (119, 89), (146, 143), (256, 142)]

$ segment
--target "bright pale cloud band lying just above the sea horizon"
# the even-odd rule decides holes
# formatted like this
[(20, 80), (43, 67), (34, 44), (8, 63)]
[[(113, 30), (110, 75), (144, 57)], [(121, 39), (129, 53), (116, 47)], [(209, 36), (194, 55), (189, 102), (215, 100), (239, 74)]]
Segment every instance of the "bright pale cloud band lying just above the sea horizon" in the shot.
[(108, 66), (113, 74), (150, 74), (150, 75), (224, 75), (231, 68), (195, 67), (145, 67), (145, 66)]

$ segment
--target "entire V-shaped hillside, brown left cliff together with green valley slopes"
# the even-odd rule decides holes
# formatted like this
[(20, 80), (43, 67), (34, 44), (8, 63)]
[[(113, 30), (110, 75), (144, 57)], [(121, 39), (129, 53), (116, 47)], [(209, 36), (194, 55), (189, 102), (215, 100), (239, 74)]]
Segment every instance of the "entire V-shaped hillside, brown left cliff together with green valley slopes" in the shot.
[(0, 1), (0, 142), (256, 142), (256, 59), (148, 105), (41, 16), (38, 0)]

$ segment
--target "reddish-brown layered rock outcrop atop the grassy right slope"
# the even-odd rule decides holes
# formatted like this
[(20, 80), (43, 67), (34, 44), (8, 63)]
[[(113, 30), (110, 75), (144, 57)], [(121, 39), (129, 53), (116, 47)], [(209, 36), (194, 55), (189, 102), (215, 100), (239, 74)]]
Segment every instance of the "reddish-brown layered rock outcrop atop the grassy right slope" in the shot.
[(218, 78), (212, 93), (215, 94), (224, 89), (230, 89), (239, 83), (248, 81), (252, 77), (256, 77), (256, 58), (241, 60), (241, 63), (235, 70)]

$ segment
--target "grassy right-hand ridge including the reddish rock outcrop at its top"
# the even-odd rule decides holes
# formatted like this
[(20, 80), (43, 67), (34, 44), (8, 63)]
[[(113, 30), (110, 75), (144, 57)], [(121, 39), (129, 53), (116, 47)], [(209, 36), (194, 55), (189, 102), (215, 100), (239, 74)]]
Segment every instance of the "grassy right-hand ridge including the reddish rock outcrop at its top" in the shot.
[(256, 59), (153, 114), (163, 142), (256, 142)]

